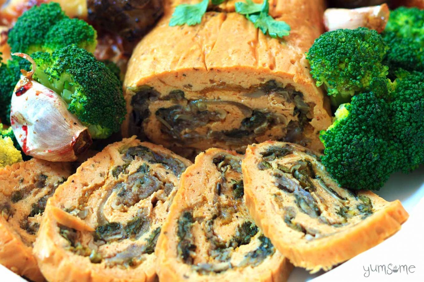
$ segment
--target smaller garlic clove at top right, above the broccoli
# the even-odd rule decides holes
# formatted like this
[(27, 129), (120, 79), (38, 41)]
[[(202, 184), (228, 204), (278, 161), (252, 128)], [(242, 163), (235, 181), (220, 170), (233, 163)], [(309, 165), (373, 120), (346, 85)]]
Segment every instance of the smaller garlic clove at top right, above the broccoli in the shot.
[(389, 15), (387, 4), (356, 9), (329, 8), (324, 12), (324, 25), (327, 31), (365, 27), (381, 33), (387, 25)]

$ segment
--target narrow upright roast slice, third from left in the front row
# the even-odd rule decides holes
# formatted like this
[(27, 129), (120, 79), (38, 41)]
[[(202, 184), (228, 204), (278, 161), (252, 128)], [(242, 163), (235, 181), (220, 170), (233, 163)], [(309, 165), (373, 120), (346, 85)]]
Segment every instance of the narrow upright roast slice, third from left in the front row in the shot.
[(254, 224), (243, 156), (208, 149), (181, 176), (156, 246), (160, 281), (285, 281), (292, 265)]

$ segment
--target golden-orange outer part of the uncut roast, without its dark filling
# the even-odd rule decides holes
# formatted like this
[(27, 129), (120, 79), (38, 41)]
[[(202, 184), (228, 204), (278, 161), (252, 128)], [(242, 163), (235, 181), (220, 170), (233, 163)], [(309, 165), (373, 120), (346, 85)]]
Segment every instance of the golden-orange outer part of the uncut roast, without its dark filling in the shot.
[[(226, 6), (228, 8), (223, 11), (233, 11), (233, 2)], [(305, 130), (304, 135), (310, 139), (307, 142), (309, 147), (322, 149), (318, 132), (331, 124), (329, 104), (309, 74), (305, 52), (323, 32), (323, 9), (321, 0), (273, 3), (271, 14), (291, 26), (290, 36), (282, 40), (265, 36), (243, 15), (234, 12), (207, 12), (199, 25), (170, 27), (173, 10), (170, 9), (156, 28), (140, 41), (129, 62), (124, 82), (128, 116), (122, 127), (123, 134), (128, 135), (133, 90), (139, 86), (151, 86), (162, 96), (172, 90), (182, 90), (189, 100), (203, 97), (245, 103), (249, 99), (243, 98), (240, 93), (245, 93), (251, 86), (276, 80), (283, 86), (293, 86), (303, 93), (304, 102), (314, 105), (310, 112), (311, 127)], [(159, 102), (152, 102), (151, 105), (159, 105)], [(273, 102), (252, 104), (280, 113), (272, 108)], [(250, 106), (248, 102), (247, 105)], [(156, 109), (150, 107), (151, 116), (154, 116)], [(154, 117), (147, 119), (146, 123), (144, 133), (150, 140), (165, 147), (178, 147), (173, 143), (175, 141), (170, 141), (159, 132), (161, 124)], [(214, 126), (218, 128), (216, 123)], [(232, 129), (232, 124), (226, 122), (222, 129)], [(278, 136), (275, 132), (270, 134), (271, 138)], [(258, 138), (257, 142), (269, 139), (263, 136)], [(209, 147), (239, 149), (224, 141), (211, 140), (203, 138), (188, 145), (201, 150)]]

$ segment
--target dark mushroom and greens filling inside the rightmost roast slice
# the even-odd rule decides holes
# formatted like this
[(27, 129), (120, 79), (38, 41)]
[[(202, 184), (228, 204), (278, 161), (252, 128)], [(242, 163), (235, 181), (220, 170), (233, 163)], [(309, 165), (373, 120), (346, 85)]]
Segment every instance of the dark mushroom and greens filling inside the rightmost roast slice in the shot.
[[(374, 212), (368, 196), (339, 187), (328, 177), (319, 158), (313, 153), (305, 151), (298, 156), (296, 150), (287, 144), (284, 147), (268, 147), (260, 154), (262, 158), (257, 167), (269, 171), (273, 176), (278, 189), (273, 194), (274, 200), (282, 210), (285, 223), (303, 232), (307, 240), (337, 232), (323, 225), (345, 227)], [(317, 228), (310, 228), (305, 221), (300, 221), (298, 218), (302, 217), (296, 217), (299, 213), (318, 221)]]

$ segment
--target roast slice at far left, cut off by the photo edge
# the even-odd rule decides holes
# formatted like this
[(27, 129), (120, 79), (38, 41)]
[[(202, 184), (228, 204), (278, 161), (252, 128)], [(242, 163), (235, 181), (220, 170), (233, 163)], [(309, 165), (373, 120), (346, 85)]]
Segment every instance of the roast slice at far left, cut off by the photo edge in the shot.
[(45, 281), (32, 254), (47, 199), (71, 174), (70, 163), (31, 159), (0, 169), (0, 263)]

